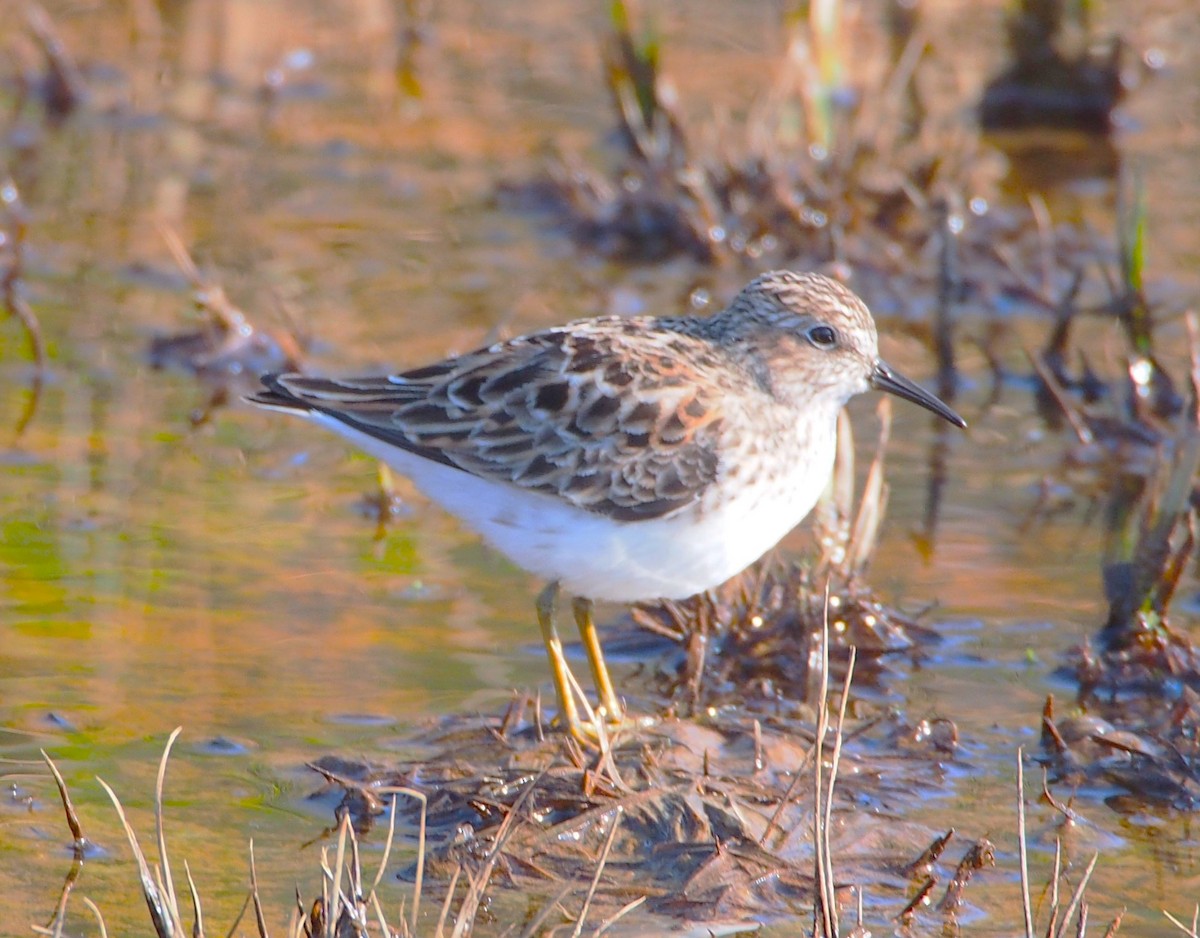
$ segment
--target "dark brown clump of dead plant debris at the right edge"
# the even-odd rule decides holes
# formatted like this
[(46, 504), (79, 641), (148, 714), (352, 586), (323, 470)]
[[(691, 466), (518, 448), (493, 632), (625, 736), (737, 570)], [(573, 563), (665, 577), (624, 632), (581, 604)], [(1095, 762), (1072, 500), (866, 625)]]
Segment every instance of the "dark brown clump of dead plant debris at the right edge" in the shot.
[(1104, 569), (1109, 617), (1068, 668), (1087, 712), (1056, 720), (1048, 702), (1042, 746), (1062, 781), (1104, 780), (1151, 800), (1200, 806), (1200, 656), (1169, 621), (1195, 547), (1200, 469), (1200, 348), (1193, 336), (1193, 405), (1145, 491), (1111, 495)]

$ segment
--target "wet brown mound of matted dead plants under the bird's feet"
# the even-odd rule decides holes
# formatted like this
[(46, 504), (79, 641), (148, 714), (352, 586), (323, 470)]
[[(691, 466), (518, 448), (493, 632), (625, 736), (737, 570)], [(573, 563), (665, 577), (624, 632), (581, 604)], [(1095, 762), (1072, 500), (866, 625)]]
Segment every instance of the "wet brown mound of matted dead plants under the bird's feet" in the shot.
[[(583, 889), (607, 849), (594, 896), (601, 916), (641, 896), (654, 913), (691, 920), (761, 918), (814, 901), (811, 860), (805, 859), (814, 798), (805, 768), (811, 723), (760, 722), (756, 746), (755, 726), (740, 715), (714, 715), (703, 723), (667, 718), (618, 741), (610, 753), (623, 780), (616, 783), (596, 756), (576, 764), (563, 734), (539, 740), (532, 711), (532, 705), (509, 706), (494, 720), (448, 718), (416, 740), (436, 753), (419, 763), (386, 770), (328, 762), (314, 768), (343, 786), (347, 798), (337, 813), (348, 812), (359, 829), (378, 817), (364, 789), (421, 792), (436, 844), (427, 870), (438, 878), (456, 870), (478, 873), (494, 856), (493, 882), (534, 892), (570, 883)], [(884, 768), (878, 753), (888, 745), (887, 720), (854, 721), (844, 735), (840, 759), (847, 768), (834, 795), (832, 854), (842, 879), (871, 882), (881, 895), (894, 892), (890, 871), (902, 861), (880, 855), (881, 843), (846, 820), (864, 802), (886, 804), (906, 788), (936, 783), (940, 757), (882, 757)], [(756, 771), (760, 747), (764, 757)], [(797, 777), (808, 781), (796, 784)], [(916, 842), (912, 847), (919, 849)]]

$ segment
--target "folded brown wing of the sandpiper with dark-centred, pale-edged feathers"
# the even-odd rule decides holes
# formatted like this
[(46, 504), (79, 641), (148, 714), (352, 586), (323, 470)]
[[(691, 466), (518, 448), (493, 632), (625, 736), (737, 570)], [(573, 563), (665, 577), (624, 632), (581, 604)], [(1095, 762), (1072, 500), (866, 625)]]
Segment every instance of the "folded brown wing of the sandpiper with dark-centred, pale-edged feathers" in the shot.
[(659, 518), (715, 480), (720, 409), (694, 380), (697, 339), (658, 331), (647, 355), (630, 326), (589, 320), (392, 377), (269, 377), (257, 401), (618, 521)]

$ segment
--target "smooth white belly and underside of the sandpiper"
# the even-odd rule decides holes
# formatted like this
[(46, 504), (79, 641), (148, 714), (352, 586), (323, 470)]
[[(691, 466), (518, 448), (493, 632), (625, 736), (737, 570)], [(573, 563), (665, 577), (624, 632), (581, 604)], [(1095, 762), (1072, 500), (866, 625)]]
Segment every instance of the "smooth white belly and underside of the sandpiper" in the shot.
[(685, 599), (724, 583), (799, 524), (821, 495), (833, 464), (833, 426), (821, 428), (823, 459), (793, 457), (791, 471), (706, 511), (617, 522), (550, 495), (486, 481), (389, 446), (334, 417), (310, 419), (407, 475), (521, 567), (593, 600)]

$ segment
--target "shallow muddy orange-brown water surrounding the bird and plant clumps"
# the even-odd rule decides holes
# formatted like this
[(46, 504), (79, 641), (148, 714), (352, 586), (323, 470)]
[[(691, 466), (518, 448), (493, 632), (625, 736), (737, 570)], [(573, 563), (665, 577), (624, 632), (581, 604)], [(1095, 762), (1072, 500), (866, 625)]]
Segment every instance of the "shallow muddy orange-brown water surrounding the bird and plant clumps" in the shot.
[[(953, 114), (996, 61), (998, 13), (971, 5), (962, 20), (953, 4), (932, 6), (931, 84)], [(1150, 272), (1170, 282), (1174, 307), (1200, 293), (1200, 80), (1184, 54), (1200, 36), (1176, 8), (1186, 5), (1146, 5), (1136, 22), (1115, 23), (1134, 49), (1162, 49), (1169, 64), (1134, 92), (1118, 145), (1144, 168)], [(419, 721), (492, 711), (510, 689), (545, 684), (530, 623), (536, 584), (403, 483), (403, 507), (377, 536), (361, 509), (373, 467), (334, 439), (241, 407), (192, 426), (208, 391), (145, 356), (151, 336), (188, 317), (156, 224), (176, 228), (257, 318), (287, 311), (301, 323), (317, 343), (313, 367), (328, 369), (414, 365), (610, 309), (678, 308), (697, 283), (727, 296), (744, 276), (611, 266), (496, 204), (497, 181), (533, 175), (547, 142), (605, 158), (599, 7), (450, 2), (415, 24), (382, 0), (194, 0), (170, 5), (167, 19), (152, 5), (49, 10), (92, 100), (59, 127), (34, 108), (6, 125), (52, 367), (32, 421), (0, 453), (0, 757), (12, 760), (2, 765), (0, 933), (44, 924), (70, 866), (38, 748), (58, 760), (104, 848), (72, 898), (74, 933), (95, 933), (79, 895), (101, 906), (109, 933), (148, 930), (95, 776), (149, 837), (155, 763), (175, 726), (185, 727), (168, 775), (176, 866), (187, 859), (223, 932), (253, 838), (282, 927), (293, 884), (317, 889), (317, 847), (304, 844), (330, 817), (326, 802), (306, 800), (316, 784), (304, 762), (329, 752), (386, 760)], [(762, 90), (763, 50), (778, 50), (773, 8), (670, 4), (659, 17), (689, 114), (737, 116)], [(19, 17), (6, 17), (0, 36), (36, 66)], [(272, 68), (283, 90), (264, 101)], [(1070, 182), (1049, 199), (1111, 230), (1109, 182)], [(31, 369), (16, 325), (0, 325), (0, 426), (11, 427)], [(1043, 327), (1016, 324), (1030, 344)], [(925, 349), (892, 333), (887, 357), (926, 377)], [(1111, 365), (1114, 336), (1094, 342)], [(1103, 615), (1100, 535), (1082, 500), (1022, 524), (1066, 440), (1044, 431), (1020, 390), (984, 409), (982, 361), (962, 354), (972, 431), (950, 444), (934, 553), (913, 546), (931, 428), (900, 409), (871, 576), (896, 602), (938, 601), (932, 618), (949, 641), (889, 690), (914, 717), (958, 721), (971, 766), (905, 814), (996, 841), (1002, 872), (970, 894), (980, 913), (972, 931), (1009, 933), (1014, 753), (1036, 741), (1045, 693), (1069, 697), (1051, 678), (1060, 653)], [(870, 404), (856, 415), (870, 432)], [(799, 533), (784, 549), (804, 545)], [(1050, 816), (1038, 811), (1040, 871)], [(1156, 933), (1159, 908), (1187, 913), (1200, 880), (1187, 817), (1117, 814), (1096, 799), (1082, 812), (1073, 856), (1104, 853), (1093, 916), (1129, 906), (1123, 933)], [(395, 908), (402, 890), (389, 889)]]

